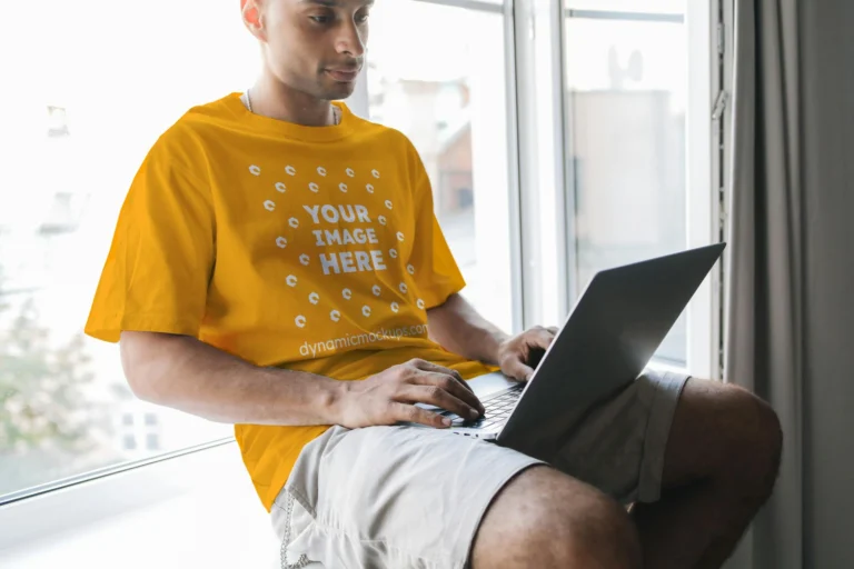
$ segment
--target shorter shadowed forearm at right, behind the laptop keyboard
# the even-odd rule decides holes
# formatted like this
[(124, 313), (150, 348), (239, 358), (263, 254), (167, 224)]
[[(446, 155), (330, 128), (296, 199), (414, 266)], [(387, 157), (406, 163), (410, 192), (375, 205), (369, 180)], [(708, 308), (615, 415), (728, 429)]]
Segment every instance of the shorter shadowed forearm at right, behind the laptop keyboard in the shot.
[(509, 338), (481, 317), (459, 295), (427, 312), (429, 335), (434, 341), (454, 353), (497, 366), (498, 347)]

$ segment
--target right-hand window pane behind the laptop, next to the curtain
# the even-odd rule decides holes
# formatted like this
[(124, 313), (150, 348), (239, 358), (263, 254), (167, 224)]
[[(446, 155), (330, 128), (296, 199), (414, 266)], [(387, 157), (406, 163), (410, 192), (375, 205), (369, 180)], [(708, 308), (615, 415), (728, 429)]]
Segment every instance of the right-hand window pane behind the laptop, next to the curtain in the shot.
[[(711, 203), (711, 179), (688, 186), (688, 62), (709, 37), (689, 37), (686, 10), (687, 0), (565, 1), (576, 298), (600, 269), (688, 247), (689, 191)], [(656, 358), (686, 366), (688, 351), (684, 313)]]

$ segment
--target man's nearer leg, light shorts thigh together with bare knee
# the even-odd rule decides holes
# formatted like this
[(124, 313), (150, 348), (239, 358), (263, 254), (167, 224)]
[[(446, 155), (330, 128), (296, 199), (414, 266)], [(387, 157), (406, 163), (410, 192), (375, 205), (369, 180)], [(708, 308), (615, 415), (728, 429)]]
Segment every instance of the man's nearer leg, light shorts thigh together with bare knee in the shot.
[(640, 567), (637, 530), (598, 490), (447, 431), (332, 427), (272, 507), (282, 567)]

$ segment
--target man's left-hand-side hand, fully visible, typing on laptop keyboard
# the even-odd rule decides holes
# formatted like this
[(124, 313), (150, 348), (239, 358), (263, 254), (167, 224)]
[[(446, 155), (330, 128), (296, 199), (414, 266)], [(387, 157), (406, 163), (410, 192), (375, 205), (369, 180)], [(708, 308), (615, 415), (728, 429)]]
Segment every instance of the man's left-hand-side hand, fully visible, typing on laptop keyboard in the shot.
[(435, 405), (470, 419), (484, 413), (484, 406), (457, 371), (414, 359), (364, 381), (348, 381), (340, 401), (340, 425), (349, 429), (398, 421), (450, 426), (449, 420), (415, 403)]

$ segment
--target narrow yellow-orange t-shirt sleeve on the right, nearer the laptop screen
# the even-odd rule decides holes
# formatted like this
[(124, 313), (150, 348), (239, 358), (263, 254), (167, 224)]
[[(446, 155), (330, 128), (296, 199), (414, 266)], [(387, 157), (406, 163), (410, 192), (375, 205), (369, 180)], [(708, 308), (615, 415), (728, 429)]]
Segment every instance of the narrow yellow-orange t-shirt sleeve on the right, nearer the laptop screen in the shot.
[(450, 252), (439, 220), (434, 212), (433, 188), (424, 163), (413, 149), (413, 176), (416, 224), (409, 263), (425, 309), (443, 305), (448, 297), (466, 287), (463, 273)]

